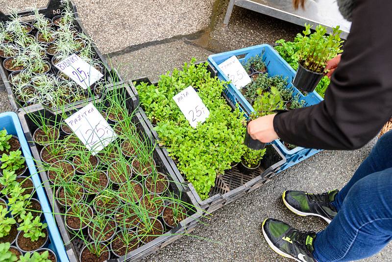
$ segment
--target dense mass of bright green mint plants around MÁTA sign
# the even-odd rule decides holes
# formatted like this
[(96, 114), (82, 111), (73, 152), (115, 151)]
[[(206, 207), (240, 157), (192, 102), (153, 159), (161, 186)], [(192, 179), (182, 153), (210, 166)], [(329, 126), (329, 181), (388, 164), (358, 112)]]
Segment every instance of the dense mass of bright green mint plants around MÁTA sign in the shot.
[[(232, 111), (221, 97), (224, 84), (211, 78), (207, 63), (185, 63), (182, 71), (174, 69), (160, 77), (157, 86), (141, 83), (136, 86), (140, 103), (147, 117), (166, 145), (169, 154), (178, 160), (177, 167), (192, 182), (202, 199), (215, 185), (217, 174), (230, 169), (232, 162), (239, 162), (244, 152), (243, 113)], [(192, 85), (210, 111), (206, 122), (192, 128), (172, 99)]]

